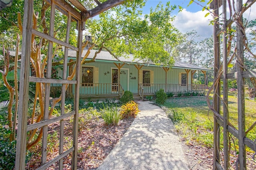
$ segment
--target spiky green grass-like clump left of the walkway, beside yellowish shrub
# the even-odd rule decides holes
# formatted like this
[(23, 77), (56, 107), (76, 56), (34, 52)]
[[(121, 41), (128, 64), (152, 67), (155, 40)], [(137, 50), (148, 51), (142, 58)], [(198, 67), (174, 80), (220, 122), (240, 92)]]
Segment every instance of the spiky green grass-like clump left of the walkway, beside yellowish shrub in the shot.
[(101, 110), (101, 117), (107, 126), (117, 126), (120, 121), (117, 107), (104, 107), (104, 109)]

